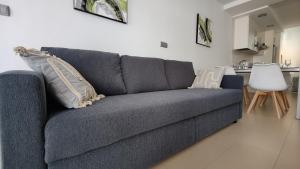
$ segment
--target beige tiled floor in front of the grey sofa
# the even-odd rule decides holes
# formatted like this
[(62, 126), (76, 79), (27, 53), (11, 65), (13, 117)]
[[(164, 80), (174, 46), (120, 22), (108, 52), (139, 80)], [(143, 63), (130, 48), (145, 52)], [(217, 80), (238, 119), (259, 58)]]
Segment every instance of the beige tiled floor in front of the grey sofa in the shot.
[(300, 121), (295, 119), (297, 95), (278, 120), (271, 100), (252, 114), (153, 169), (300, 169)]

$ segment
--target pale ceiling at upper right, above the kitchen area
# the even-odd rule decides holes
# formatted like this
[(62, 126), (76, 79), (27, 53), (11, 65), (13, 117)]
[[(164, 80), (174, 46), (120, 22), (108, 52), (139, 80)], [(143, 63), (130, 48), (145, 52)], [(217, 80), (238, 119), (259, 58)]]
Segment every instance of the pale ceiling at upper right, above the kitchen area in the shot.
[[(300, 26), (300, 0), (218, 0), (231, 16), (251, 15), (259, 25), (284, 29)], [(266, 17), (257, 15), (266, 13)], [(270, 28), (270, 27), (269, 27)]]

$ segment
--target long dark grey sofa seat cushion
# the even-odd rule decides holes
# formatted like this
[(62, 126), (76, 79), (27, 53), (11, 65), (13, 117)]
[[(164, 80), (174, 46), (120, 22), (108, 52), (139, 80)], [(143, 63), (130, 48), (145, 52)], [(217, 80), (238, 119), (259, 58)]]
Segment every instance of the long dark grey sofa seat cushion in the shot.
[(109, 96), (53, 113), (45, 127), (47, 163), (241, 102), (237, 89), (182, 89)]

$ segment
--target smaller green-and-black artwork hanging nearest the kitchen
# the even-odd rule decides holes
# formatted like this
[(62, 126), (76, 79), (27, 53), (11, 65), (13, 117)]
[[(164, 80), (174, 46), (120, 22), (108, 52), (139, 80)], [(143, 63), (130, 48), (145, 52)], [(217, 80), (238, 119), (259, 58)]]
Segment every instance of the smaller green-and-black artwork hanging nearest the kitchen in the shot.
[(212, 43), (211, 20), (202, 18), (199, 14), (197, 15), (196, 43), (206, 47), (210, 47)]

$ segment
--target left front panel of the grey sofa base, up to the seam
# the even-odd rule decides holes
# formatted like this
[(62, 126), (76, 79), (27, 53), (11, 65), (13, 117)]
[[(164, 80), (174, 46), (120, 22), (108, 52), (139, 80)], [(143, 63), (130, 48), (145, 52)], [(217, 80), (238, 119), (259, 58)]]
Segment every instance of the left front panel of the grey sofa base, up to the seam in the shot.
[(188, 119), (106, 147), (55, 161), (49, 169), (144, 169), (194, 144), (195, 122)]

